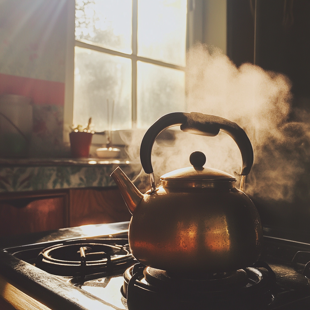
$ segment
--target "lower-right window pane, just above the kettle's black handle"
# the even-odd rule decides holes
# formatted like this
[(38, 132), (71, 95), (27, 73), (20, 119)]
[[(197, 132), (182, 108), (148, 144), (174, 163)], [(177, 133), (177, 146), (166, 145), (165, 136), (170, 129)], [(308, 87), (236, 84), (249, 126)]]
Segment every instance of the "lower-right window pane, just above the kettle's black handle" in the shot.
[(148, 128), (167, 113), (184, 111), (184, 71), (138, 61), (137, 127)]

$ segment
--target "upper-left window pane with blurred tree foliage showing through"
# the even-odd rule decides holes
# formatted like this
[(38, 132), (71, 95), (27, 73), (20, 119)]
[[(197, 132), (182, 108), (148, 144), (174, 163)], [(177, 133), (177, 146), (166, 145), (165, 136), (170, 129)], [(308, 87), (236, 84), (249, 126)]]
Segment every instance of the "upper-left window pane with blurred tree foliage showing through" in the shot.
[(75, 39), (131, 54), (131, 0), (76, 0)]

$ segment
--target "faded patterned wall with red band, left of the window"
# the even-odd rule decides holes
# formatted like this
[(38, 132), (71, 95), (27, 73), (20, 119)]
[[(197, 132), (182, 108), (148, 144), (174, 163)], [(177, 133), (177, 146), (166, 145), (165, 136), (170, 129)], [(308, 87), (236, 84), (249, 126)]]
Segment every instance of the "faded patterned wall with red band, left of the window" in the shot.
[(31, 157), (69, 154), (63, 143), (67, 0), (0, 2), (0, 95), (33, 102)]

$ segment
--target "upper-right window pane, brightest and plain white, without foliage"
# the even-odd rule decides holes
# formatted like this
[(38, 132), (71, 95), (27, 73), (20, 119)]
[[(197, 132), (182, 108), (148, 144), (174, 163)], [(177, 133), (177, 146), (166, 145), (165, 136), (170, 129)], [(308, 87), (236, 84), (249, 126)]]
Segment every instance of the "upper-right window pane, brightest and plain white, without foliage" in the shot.
[(185, 66), (186, 0), (138, 0), (138, 55)]

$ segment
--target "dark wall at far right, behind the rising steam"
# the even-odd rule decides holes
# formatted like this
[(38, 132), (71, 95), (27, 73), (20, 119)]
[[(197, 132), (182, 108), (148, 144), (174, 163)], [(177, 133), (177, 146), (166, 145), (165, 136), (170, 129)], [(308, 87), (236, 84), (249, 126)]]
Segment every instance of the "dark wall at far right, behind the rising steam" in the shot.
[[(287, 131), (283, 141), (288, 147), (279, 149), (279, 153), (283, 158), (294, 154), (292, 158), (298, 163), (292, 174), (294, 185), (289, 188), (294, 197), (291, 201), (251, 198), (264, 225), (309, 234), (310, 1), (227, 0), (227, 38), (227, 55), (237, 66), (255, 63), (271, 76), (278, 72), (290, 81), (292, 97), (287, 118), (295, 127)], [(269, 145), (273, 147), (274, 141)], [(280, 162), (271, 149), (266, 156)], [(287, 171), (293, 160), (287, 161)], [(262, 166), (260, 171), (264, 169), (270, 168)], [(251, 174), (258, 177), (260, 171), (254, 166)], [(279, 171), (274, 170), (274, 183), (281, 184), (283, 179), (277, 179), (277, 175)]]

